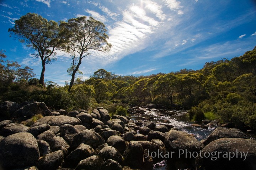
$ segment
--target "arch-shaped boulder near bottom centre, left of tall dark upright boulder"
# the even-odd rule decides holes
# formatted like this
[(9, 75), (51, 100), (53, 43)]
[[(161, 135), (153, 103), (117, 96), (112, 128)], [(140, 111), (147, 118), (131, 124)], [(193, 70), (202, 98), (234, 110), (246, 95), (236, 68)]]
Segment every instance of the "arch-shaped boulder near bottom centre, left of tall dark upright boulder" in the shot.
[(107, 146), (102, 148), (101, 151), (98, 153), (98, 155), (104, 160), (113, 159), (121, 164), (123, 162), (122, 155), (119, 153), (119, 151), (116, 148), (112, 146)]

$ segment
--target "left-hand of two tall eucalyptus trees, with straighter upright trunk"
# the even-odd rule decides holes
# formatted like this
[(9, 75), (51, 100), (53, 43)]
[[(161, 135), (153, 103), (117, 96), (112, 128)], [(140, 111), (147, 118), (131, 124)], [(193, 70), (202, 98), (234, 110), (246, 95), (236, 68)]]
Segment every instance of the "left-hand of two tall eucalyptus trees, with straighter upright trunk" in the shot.
[(36, 13), (27, 13), (15, 21), (15, 26), (9, 28), (11, 35), (15, 35), (17, 39), (26, 43), (28, 47), (33, 49), (34, 57), (41, 58), (42, 72), (39, 84), (44, 84), (45, 65), (55, 61), (55, 51), (60, 49), (66, 39), (65, 34), (59, 34), (59, 26), (55, 21), (48, 21)]

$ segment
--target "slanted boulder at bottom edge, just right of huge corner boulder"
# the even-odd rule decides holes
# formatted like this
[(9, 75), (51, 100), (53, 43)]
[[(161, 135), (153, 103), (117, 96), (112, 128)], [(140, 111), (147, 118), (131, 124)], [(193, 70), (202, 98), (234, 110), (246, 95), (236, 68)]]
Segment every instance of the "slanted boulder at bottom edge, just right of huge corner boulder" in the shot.
[(62, 151), (55, 151), (40, 157), (37, 162), (37, 167), (39, 170), (56, 170), (59, 168), (63, 161), (63, 152)]

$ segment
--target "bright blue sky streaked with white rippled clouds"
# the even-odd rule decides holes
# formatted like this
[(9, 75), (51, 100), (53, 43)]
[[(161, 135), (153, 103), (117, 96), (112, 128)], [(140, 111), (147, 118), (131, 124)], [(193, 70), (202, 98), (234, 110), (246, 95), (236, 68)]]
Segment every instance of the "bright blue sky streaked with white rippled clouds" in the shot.
[[(113, 47), (84, 58), (84, 79), (100, 68), (117, 75), (196, 70), (256, 46), (254, 0), (0, 0), (0, 49), (8, 60), (33, 68), (38, 78), (40, 60), (7, 32), (28, 12), (57, 22), (92, 16), (106, 25)], [(59, 51), (56, 57), (46, 66), (45, 79), (64, 85), (70, 80), (70, 56)]]

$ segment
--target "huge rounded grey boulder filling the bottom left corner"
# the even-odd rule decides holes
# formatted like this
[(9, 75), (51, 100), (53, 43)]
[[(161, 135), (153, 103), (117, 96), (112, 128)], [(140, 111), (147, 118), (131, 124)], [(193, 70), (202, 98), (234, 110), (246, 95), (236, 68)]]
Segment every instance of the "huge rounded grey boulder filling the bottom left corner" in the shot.
[(0, 164), (2, 168), (21, 168), (34, 165), (39, 158), (37, 140), (30, 133), (16, 133), (0, 142)]

